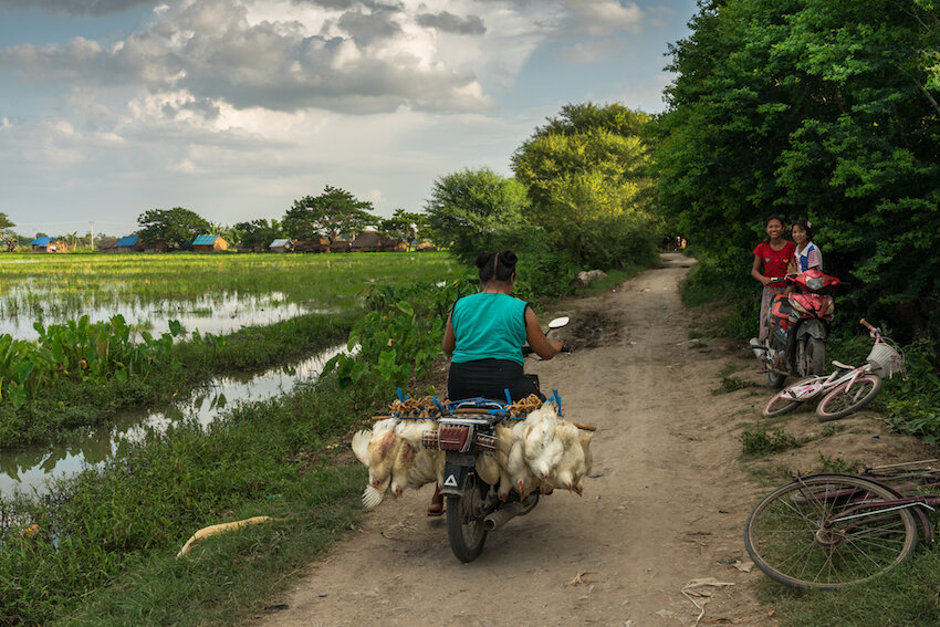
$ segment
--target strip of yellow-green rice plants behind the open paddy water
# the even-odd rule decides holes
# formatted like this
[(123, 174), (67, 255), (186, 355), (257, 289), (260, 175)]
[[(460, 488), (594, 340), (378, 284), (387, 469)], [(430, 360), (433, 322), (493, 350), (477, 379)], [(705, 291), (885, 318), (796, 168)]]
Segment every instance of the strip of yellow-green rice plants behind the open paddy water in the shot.
[[(267, 295), (331, 310), (355, 306), (372, 283), (405, 284), (462, 276), (446, 253), (344, 254), (11, 254), (0, 263), (3, 315), (77, 317), (116, 303), (163, 303), (203, 294)], [(29, 263), (15, 263), (29, 261)]]

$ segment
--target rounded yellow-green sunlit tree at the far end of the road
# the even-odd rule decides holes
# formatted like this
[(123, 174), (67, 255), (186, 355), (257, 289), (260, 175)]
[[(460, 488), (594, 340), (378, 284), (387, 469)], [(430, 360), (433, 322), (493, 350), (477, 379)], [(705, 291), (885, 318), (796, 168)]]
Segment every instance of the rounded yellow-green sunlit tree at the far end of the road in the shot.
[(568, 104), (513, 155), (531, 200), (526, 220), (578, 264), (609, 267), (654, 250), (648, 121), (619, 104)]

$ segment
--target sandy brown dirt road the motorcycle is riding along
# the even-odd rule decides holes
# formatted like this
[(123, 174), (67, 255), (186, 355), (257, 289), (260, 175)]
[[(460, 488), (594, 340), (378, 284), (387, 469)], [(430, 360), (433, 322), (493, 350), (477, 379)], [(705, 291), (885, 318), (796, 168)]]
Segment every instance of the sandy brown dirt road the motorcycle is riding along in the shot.
[[(558, 389), (566, 417), (597, 426), (596, 478), (583, 498), (558, 491), (544, 498), (491, 533), (471, 564), (452, 555), (443, 519), (425, 515), (429, 488), (386, 498), (361, 530), (273, 602), (279, 610), (260, 610), (248, 623), (694, 625), (700, 612), (682, 588), (713, 577), (733, 585), (696, 598), (707, 602), (700, 624), (775, 625), (772, 608), (756, 600), (761, 572), (735, 566), (749, 562), (744, 520), (770, 490), (753, 470), (807, 469), (819, 456), (889, 462), (900, 454), (886, 452), (897, 450), (897, 437), (859, 415), (795, 452), (742, 467), (742, 428), (760, 421), (770, 393), (713, 394), (729, 363), (742, 380), (762, 379), (746, 348), (689, 338), (697, 325), (678, 286), (691, 263), (664, 254), (660, 268), (613, 292), (565, 303), (557, 313), (570, 314), (572, 324), (561, 335), (575, 352), (528, 363), (543, 389)], [(812, 414), (797, 414), (786, 429), (822, 432)], [(917, 454), (912, 447), (906, 459)]]

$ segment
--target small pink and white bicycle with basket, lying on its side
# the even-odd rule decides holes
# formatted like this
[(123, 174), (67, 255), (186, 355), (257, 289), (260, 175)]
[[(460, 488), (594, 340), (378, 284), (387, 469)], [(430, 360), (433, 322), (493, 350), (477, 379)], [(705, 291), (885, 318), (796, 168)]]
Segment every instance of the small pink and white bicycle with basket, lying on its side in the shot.
[(761, 416), (783, 416), (804, 403), (821, 399), (816, 406), (819, 421), (845, 418), (878, 396), (884, 377), (890, 378), (897, 372), (904, 374), (905, 360), (897, 346), (881, 335), (880, 328), (865, 320), (860, 324), (875, 338), (864, 366), (849, 366), (833, 360), (836, 369), (831, 375), (806, 377), (783, 388), (771, 398)]

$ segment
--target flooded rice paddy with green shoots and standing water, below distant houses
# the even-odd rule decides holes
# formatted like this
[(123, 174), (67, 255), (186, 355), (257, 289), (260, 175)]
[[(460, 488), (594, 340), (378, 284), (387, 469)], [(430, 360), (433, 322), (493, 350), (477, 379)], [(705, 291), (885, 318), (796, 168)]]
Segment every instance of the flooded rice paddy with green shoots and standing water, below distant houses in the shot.
[(0, 257), (0, 335), (34, 339), (33, 323), (122, 314), (137, 330), (228, 333), (357, 306), (370, 284), (463, 273), (443, 253), (8, 254)]

